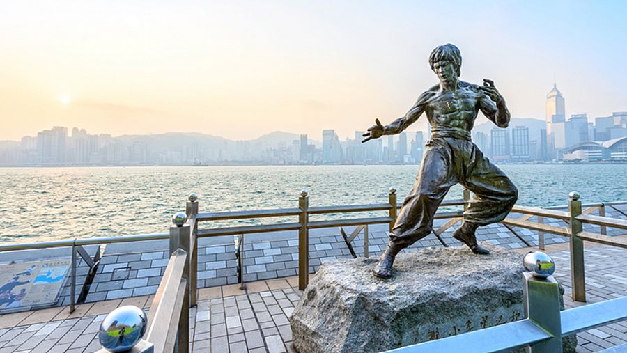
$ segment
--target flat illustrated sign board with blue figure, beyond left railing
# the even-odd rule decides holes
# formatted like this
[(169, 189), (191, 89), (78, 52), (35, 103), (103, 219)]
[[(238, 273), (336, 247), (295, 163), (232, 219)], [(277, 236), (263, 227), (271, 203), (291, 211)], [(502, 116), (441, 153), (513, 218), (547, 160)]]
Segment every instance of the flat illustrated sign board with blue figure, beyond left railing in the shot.
[(0, 313), (56, 303), (69, 268), (69, 258), (0, 265)]

